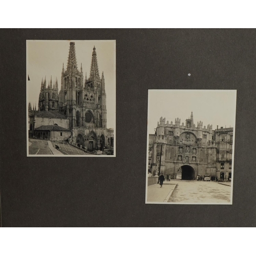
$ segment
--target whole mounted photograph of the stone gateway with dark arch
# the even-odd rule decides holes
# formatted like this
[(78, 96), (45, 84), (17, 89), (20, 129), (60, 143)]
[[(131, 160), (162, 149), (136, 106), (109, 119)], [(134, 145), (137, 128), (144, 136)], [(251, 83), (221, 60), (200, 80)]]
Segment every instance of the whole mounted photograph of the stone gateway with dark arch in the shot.
[(146, 203), (232, 204), (236, 90), (148, 90)]

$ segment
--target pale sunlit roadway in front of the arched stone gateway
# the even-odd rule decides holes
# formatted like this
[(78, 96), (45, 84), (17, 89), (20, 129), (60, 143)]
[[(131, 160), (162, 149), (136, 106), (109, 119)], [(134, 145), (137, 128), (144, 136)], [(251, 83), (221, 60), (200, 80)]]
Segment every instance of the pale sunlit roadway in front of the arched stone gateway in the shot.
[(231, 186), (214, 181), (173, 180), (177, 186), (168, 202), (230, 204)]

